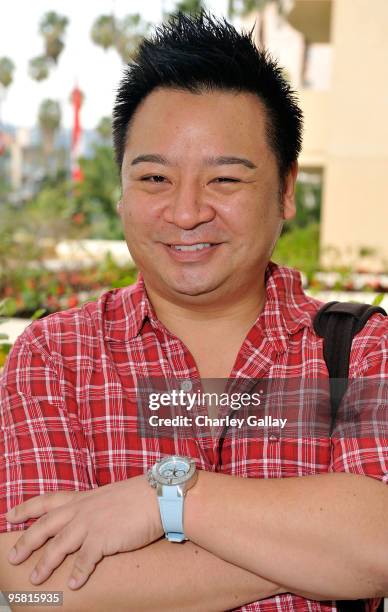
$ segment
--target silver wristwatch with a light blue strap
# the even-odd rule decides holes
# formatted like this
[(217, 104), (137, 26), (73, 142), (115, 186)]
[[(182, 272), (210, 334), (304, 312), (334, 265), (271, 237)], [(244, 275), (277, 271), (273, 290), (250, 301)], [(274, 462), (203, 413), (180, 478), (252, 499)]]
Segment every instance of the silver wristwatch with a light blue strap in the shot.
[(148, 482), (156, 489), (164, 533), (170, 542), (187, 540), (183, 531), (184, 499), (197, 478), (194, 459), (177, 455), (165, 457), (147, 472)]

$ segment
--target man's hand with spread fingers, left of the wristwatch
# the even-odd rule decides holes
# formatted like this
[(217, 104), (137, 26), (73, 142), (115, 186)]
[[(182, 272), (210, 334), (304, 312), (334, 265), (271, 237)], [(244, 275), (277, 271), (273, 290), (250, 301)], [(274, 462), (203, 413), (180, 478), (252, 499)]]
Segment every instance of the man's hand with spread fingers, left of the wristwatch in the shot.
[(66, 555), (78, 551), (68, 582), (71, 589), (83, 586), (104, 556), (142, 548), (164, 533), (156, 492), (145, 476), (90, 491), (45, 493), (6, 515), (10, 523), (35, 517), (40, 518), (23, 532), (12, 549), (16, 554), (12, 557), (10, 551), (8, 560), (21, 563), (52, 538), (30, 580), (44, 582)]

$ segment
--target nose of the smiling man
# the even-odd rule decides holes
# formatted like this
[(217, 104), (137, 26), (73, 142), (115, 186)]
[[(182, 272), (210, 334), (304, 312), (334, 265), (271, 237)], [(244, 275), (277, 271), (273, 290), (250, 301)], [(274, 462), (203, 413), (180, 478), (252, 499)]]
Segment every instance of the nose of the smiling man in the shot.
[(165, 221), (186, 230), (212, 221), (215, 210), (204, 191), (200, 184), (182, 181), (164, 211)]

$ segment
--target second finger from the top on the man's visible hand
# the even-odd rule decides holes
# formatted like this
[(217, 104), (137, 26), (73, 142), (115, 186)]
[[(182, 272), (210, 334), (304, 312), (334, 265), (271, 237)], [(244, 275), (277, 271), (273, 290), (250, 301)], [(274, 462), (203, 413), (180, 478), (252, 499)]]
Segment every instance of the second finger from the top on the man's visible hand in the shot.
[[(61, 531), (71, 521), (74, 514), (75, 508), (71, 505), (65, 505), (41, 516), (23, 532), (23, 535), (10, 551), (8, 560), (14, 564), (25, 561), (34, 550), (43, 546), (48, 538)], [(13, 551), (15, 552), (13, 553)]]

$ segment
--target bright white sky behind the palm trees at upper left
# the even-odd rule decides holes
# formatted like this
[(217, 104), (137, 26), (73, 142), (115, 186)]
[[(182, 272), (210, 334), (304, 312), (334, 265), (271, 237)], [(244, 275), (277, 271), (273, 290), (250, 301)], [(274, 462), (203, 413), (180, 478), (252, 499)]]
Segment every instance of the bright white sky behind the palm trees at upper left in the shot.
[[(162, 3), (170, 9), (172, 0), (2, 0), (0, 4), (0, 57), (8, 56), (16, 64), (14, 82), (1, 103), (0, 119), (21, 127), (36, 122), (38, 107), (44, 98), (58, 100), (62, 106), (62, 125), (70, 127), (72, 109), (69, 96), (75, 82), (85, 92), (82, 124), (94, 128), (99, 119), (109, 115), (122, 63), (113, 50), (104, 52), (90, 39), (93, 21), (99, 15), (122, 17), (139, 12), (147, 21), (161, 19)], [(225, 13), (227, 0), (209, 0), (207, 8)], [(58, 66), (46, 81), (36, 83), (28, 76), (28, 62), (42, 54), (43, 41), (38, 24), (47, 11), (69, 18), (66, 46)]]

